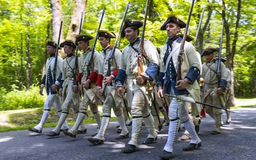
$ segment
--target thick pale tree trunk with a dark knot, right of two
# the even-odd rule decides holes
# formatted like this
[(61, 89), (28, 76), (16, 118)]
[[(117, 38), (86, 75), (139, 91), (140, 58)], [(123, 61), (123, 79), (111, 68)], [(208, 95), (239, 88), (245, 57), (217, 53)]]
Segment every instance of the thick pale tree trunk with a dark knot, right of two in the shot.
[(71, 17), (70, 25), (68, 28), (68, 35), (66, 39), (70, 39), (75, 42), (75, 36), (78, 35), (81, 14), (85, 13), (85, 6), (87, 0), (74, 0), (74, 10)]

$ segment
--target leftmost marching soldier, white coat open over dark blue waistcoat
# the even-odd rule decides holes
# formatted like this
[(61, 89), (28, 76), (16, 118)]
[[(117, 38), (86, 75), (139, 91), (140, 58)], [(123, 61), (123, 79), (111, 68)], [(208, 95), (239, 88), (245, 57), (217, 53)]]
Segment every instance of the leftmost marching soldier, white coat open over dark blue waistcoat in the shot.
[[(44, 88), (46, 88), (48, 97), (44, 102), (44, 113), (42, 115), (40, 123), (37, 124), (34, 128), (28, 128), (28, 131), (31, 131), (31, 132), (42, 133), (44, 123), (50, 114), (52, 105), (57, 110), (59, 116), (61, 115), (61, 112), (62, 112), (60, 96), (58, 96), (56, 92), (52, 90), (52, 84), (55, 84), (55, 82), (53, 82), (54, 81), (53, 68), (54, 68), (54, 61), (55, 61), (55, 52), (56, 52), (56, 49), (59, 49), (57, 47), (58, 46), (54, 41), (50, 41), (50, 40), (47, 41), (46, 51), (47, 51), (47, 54), (50, 54), (50, 58), (46, 61), (46, 64), (45, 64), (45, 74), (41, 81), (41, 88), (39, 93), (40, 95), (43, 95), (43, 90)], [(63, 59), (61, 57), (58, 57), (57, 64), (56, 64), (57, 66), (56, 66), (55, 77), (58, 77), (62, 71), (62, 61)], [(60, 130), (63, 131), (67, 129), (68, 129), (68, 124), (66, 121), (64, 121)]]

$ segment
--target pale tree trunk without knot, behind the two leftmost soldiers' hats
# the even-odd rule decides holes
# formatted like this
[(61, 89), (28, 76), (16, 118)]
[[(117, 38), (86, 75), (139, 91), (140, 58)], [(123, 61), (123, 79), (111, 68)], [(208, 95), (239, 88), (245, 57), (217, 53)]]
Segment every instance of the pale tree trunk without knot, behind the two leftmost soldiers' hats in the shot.
[[(58, 42), (60, 32), (60, 21), (62, 20), (62, 10), (60, 0), (51, 0), (52, 12), (52, 39)], [(64, 40), (63, 32), (61, 32), (60, 42)]]

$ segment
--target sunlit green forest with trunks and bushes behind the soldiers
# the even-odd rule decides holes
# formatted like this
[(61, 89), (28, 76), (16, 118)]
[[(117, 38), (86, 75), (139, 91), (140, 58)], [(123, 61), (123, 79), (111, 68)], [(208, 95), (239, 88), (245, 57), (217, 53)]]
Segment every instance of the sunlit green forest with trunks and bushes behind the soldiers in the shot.
[[(48, 58), (46, 40), (57, 42), (61, 20), (60, 41), (74, 40), (81, 13), (84, 13), (82, 33), (95, 37), (101, 11), (106, 7), (101, 29), (117, 33), (127, 3), (127, 0), (0, 0), (0, 110), (43, 106), (45, 96), (38, 92)], [(130, 3), (126, 18), (143, 20), (146, 0), (130, 0)], [(160, 26), (172, 13), (187, 20), (190, 5), (191, 0), (150, 0), (145, 38), (151, 40), (154, 36), (153, 43), (161, 48), (167, 37)], [(219, 47), (221, 22), (225, 21), (222, 57), (228, 59), (225, 64), (231, 70), (237, 98), (256, 97), (255, 6), (253, 0), (196, 0), (190, 20), (190, 35), (195, 37), (205, 8), (196, 44), (199, 53), (210, 46)], [(127, 44), (122, 39), (120, 49)], [(101, 51), (99, 43), (96, 49)], [(63, 51), (60, 53), (64, 58)]]

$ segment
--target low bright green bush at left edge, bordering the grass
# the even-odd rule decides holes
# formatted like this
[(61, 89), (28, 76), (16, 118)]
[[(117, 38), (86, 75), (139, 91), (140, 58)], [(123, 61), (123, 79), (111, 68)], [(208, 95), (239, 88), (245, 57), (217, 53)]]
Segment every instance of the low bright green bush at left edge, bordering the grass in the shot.
[(30, 87), (30, 90), (19, 90), (15, 84), (12, 85), (11, 92), (6, 89), (0, 89), (0, 110), (37, 108), (44, 106), (46, 95), (39, 95), (39, 88), (36, 84)]

